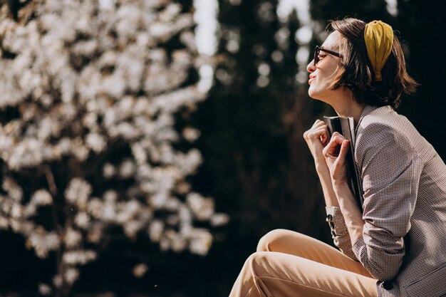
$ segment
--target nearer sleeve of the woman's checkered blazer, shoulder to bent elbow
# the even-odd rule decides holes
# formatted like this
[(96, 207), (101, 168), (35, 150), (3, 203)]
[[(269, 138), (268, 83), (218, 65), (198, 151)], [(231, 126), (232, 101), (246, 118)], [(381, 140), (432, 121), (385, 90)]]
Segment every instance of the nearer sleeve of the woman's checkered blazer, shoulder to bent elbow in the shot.
[(358, 133), (356, 161), (363, 178), (363, 236), (353, 252), (380, 281), (398, 274), (405, 256), (403, 237), (417, 202), (422, 161), (405, 135), (373, 123)]

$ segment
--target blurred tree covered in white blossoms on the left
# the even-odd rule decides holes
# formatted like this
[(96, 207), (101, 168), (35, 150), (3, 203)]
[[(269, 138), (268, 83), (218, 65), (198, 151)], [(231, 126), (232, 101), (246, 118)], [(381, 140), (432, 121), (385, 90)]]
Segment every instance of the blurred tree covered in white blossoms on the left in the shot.
[(192, 191), (201, 155), (177, 144), (199, 132), (175, 125), (206, 95), (192, 15), (171, 0), (15, 2), (0, 8), (0, 228), (56, 256), (41, 293), (66, 295), (112, 226), (207, 254), (195, 222), (227, 217)]

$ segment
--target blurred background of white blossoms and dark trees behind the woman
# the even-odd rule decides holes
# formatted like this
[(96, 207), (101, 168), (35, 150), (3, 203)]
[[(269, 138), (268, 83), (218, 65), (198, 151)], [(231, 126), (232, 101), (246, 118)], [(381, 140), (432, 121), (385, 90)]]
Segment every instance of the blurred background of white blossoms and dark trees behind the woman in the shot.
[(302, 137), (331, 19), (380, 19), (446, 159), (440, 1), (0, 1), (0, 296), (227, 296), (271, 229), (331, 243)]

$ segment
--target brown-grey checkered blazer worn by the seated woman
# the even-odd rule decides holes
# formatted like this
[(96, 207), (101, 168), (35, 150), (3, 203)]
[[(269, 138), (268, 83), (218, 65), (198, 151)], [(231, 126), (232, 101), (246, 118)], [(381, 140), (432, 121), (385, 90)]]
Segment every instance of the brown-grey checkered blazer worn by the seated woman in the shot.
[(379, 297), (446, 296), (445, 162), (389, 105), (365, 105), (355, 146), (363, 236), (352, 246), (341, 210), (327, 207), (334, 243), (378, 279)]

